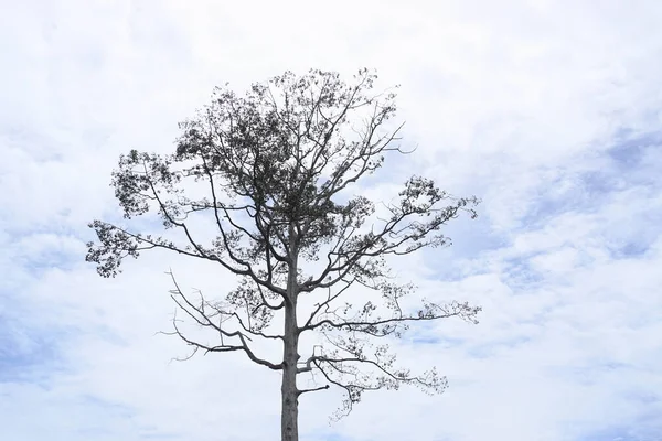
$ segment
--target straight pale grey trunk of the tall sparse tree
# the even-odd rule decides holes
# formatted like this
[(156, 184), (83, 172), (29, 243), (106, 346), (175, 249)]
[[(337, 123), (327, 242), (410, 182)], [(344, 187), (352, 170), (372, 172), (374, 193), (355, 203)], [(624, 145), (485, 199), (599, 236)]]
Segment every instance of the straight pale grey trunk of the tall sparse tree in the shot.
[(297, 390), (297, 363), (299, 362), (299, 331), (297, 329), (297, 251), (293, 228), (290, 226), (291, 261), (285, 301), (285, 332), (282, 353), (282, 408), (280, 413), (280, 440), (299, 441), (299, 394)]

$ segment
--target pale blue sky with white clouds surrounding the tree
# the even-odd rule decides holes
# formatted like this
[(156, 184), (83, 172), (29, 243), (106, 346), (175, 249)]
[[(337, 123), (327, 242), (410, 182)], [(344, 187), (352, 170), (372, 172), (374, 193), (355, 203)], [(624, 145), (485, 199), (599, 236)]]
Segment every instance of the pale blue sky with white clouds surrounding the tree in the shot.
[[(186, 363), (169, 268), (103, 279), (86, 224), (118, 219), (120, 153), (167, 153), (216, 85), (286, 69), (401, 84), (412, 173), (482, 198), (450, 248), (398, 261), (419, 294), (483, 308), (397, 343), (449, 389), (301, 399), (301, 440), (662, 440), (662, 3), (0, 0), (0, 438), (256, 441), (279, 433), (279, 378), (241, 355)], [(225, 282), (224, 282), (225, 280)]]

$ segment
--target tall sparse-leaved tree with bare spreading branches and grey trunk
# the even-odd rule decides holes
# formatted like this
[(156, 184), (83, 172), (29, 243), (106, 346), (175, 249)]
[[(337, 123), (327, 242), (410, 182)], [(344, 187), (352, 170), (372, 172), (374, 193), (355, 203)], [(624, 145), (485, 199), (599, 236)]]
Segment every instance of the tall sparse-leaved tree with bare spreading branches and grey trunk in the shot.
[[(434, 368), (412, 374), (396, 366), (386, 344), (372, 342), (401, 337), (419, 321), (476, 322), (480, 311), (456, 301), (403, 308), (402, 299), (414, 288), (397, 283), (386, 261), (449, 245), (441, 228), (462, 212), (476, 217), (476, 197), (453, 197), (417, 175), (404, 183), (395, 202), (375, 204), (351, 194), (353, 184), (382, 166), (386, 153), (408, 153), (396, 146), (402, 126), (389, 126), (395, 94), (372, 92), (375, 78), (367, 69), (351, 83), (337, 73), (288, 72), (253, 85), (244, 96), (227, 85), (216, 88), (211, 105), (180, 123), (173, 154), (131, 150), (113, 173), (124, 216), (156, 212), (178, 238), (103, 220), (89, 224), (98, 243), (88, 244), (86, 259), (103, 277), (115, 277), (124, 258), (148, 249), (212, 261), (238, 277), (225, 301), (202, 294), (194, 300), (173, 277), (177, 308), (213, 332), (215, 343), (182, 332), (177, 319), (172, 334), (193, 353), (243, 352), (280, 372), (282, 441), (298, 440), (299, 397), (307, 392), (341, 388), (345, 398), (338, 418), (366, 390), (410, 384), (441, 392), (447, 381)], [(361, 126), (354, 123), (359, 120)], [(206, 196), (191, 197), (189, 182), (205, 185)], [(215, 238), (206, 245), (191, 228), (194, 216), (214, 224)], [(282, 320), (279, 330), (276, 316)], [(324, 343), (306, 347), (301, 359), (299, 340), (309, 332)], [(281, 359), (258, 354), (259, 340), (280, 343)], [(317, 387), (298, 386), (305, 373), (317, 375)]]

